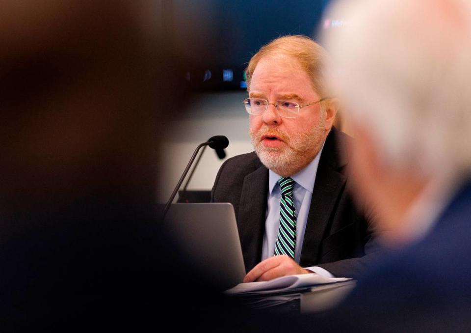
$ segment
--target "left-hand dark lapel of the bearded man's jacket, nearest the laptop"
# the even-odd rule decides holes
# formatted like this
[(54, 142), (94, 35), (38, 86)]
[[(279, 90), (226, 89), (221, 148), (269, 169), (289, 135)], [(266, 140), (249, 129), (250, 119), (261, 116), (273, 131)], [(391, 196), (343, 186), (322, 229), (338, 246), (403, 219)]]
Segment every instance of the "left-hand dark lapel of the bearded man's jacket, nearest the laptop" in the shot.
[(260, 163), (254, 172), (244, 178), (237, 218), (240, 244), (247, 272), (262, 258), (267, 195), (268, 169)]

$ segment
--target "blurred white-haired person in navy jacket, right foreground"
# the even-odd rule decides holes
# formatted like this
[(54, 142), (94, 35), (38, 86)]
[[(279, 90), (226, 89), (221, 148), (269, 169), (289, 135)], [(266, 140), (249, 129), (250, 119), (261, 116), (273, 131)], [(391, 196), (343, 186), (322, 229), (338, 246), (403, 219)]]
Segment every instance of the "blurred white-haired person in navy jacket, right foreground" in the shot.
[(329, 15), (345, 22), (323, 41), (333, 55), (328, 77), (355, 129), (352, 179), (398, 252), (327, 322), (303, 325), (469, 331), (470, 1), (341, 1)]

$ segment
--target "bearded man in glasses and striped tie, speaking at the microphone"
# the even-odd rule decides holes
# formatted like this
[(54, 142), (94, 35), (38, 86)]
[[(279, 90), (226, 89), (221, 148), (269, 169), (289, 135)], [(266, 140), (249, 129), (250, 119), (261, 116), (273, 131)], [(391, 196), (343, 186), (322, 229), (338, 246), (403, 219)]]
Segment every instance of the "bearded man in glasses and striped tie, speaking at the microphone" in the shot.
[(338, 103), (324, 93), (325, 50), (305, 36), (263, 46), (246, 74), (255, 152), (227, 160), (213, 202), (235, 209), (244, 282), (317, 273), (357, 277), (377, 255), (353, 202), (348, 136), (332, 127)]

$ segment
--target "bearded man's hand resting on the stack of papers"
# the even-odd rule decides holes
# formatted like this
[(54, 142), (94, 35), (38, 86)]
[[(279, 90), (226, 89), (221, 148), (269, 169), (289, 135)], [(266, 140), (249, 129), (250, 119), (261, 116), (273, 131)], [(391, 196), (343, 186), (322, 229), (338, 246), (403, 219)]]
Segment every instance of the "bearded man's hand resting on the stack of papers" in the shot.
[(286, 275), (309, 274), (311, 271), (305, 270), (287, 255), (275, 255), (263, 260), (255, 266), (244, 278), (244, 282), (268, 281)]

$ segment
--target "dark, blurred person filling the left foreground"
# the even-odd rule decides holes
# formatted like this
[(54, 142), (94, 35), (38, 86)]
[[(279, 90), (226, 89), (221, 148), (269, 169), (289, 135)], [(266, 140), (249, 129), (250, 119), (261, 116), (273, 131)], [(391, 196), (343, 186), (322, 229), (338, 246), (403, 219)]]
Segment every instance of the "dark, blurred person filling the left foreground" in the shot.
[(224, 318), (205, 282), (179, 274), (154, 212), (159, 107), (186, 96), (160, 4), (2, 1), (2, 332)]

